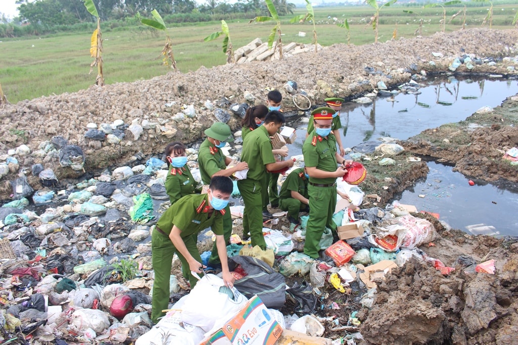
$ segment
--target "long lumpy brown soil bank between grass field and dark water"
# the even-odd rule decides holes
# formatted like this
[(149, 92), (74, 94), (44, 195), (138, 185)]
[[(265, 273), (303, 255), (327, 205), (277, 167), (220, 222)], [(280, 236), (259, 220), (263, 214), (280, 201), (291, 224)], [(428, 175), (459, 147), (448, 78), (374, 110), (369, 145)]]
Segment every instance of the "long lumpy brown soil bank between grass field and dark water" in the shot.
[[(9, 175), (0, 181), (0, 196), (8, 198), (6, 181), (21, 167), (35, 163), (54, 169), (60, 179), (80, 175), (60, 168), (55, 153), (33, 154), (53, 136), (62, 136), (83, 149), (87, 171), (120, 166), (135, 162), (140, 155), (161, 152), (172, 138), (193, 142), (214, 121), (238, 129), (240, 118), (228, 105), (262, 103), (267, 87), (281, 90), (285, 111), (296, 110), (292, 95), (284, 88), (287, 81), (295, 81), (297, 92), (306, 93), (314, 105), (330, 96), (355, 98), (373, 91), (379, 81), (390, 88), (410, 80), (413, 74), (422, 78), (427, 72), (448, 71), (455, 58), (466, 54), (482, 63), (472, 69), (462, 64), (455, 70), (458, 73), (514, 74), (508, 69), (514, 63), (501, 58), (516, 55), (517, 39), (515, 30), (477, 28), (358, 47), (335, 44), (318, 54), (299, 54), (283, 61), (202, 67), (186, 74), (169, 72), (146, 81), (92, 86), (77, 93), (21, 101), (0, 109), (0, 154), (21, 144), (30, 147), (31, 154), (17, 157), (18, 166), (10, 167)], [(89, 123), (100, 128), (117, 120), (142, 127), (142, 133), (135, 136), (126, 131), (121, 141), (112, 143), (84, 137)]]

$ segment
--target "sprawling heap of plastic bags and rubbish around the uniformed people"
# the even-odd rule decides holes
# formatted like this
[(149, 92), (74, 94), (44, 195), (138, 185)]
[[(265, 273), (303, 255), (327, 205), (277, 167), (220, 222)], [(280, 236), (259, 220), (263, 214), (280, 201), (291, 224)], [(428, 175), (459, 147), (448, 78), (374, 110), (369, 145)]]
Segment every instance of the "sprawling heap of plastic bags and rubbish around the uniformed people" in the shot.
[[(234, 148), (223, 149), (229, 155)], [(188, 149), (188, 164), (201, 183), (196, 153)], [(77, 148), (68, 157), (81, 164)], [(300, 166), (301, 157), (295, 161)], [(339, 178), (338, 188), (348, 193), (353, 206), (338, 203), (337, 232), (324, 231), (318, 260), (303, 253), (309, 216), (301, 216), (295, 227), (283, 218), (285, 213), (277, 213), (264, 224), (266, 250), (233, 235), (227, 247), (236, 278), (233, 289), (221, 291), (221, 279), (207, 274), (189, 293), (181, 274), (171, 275), (170, 297), (176, 303), (153, 325), (150, 233), (169, 205), (165, 162), (150, 158), (65, 189), (56, 189), (51, 172), (42, 175), (45, 170), (38, 168), (32, 170), (45, 176), (42, 189), (34, 192), (20, 177), (11, 183), (15, 200), (0, 207), (3, 341), (145, 344), (161, 334), (162, 343), (187, 338), (219, 343), (215, 341), (235, 337), (242, 328), (228, 333), (223, 322), (238, 322), (239, 315), (241, 324), (252, 322), (243, 316), (249, 314), (246, 310), (261, 310), (262, 316), (254, 319), (257, 337), (275, 341), (325, 335), (333, 344), (354, 344), (363, 339), (358, 312), (375, 304), (377, 284), (392, 269), (413, 260), (445, 276), (455, 270), (448, 265), (452, 263), (418, 248), (433, 246), (438, 234), (431, 222), (409, 213), (416, 210), (397, 204), (359, 209), (355, 206), (362, 204), (364, 193)], [(238, 190), (233, 197), (239, 198)], [(242, 208), (238, 203), (231, 207), (235, 232)], [(209, 256), (204, 252), (202, 258)], [(462, 260), (465, 272), (495, 272), (494, 260)]]

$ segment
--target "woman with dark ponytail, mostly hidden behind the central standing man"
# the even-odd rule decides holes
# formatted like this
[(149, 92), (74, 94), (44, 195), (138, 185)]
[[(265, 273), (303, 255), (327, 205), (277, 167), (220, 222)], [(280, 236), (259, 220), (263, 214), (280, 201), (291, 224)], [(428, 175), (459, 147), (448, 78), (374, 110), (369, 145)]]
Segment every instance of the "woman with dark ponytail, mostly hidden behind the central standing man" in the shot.
[[(282, 97), (282, 96), (281, 96)], [(264, 123), (264, 119), (266, 114), (268, 113), (268, 108), (264, 104), (259, 104), (258, 106), (253, 106), (247, 109), (247, 112), (244, 115), (243, 120), (241, 121), (241, 137), (244, 138), (253, 131), (254, 129), (260, 127)], [(272, 150), (274, 155), (280, 155), (281, 157), (287, 157), (288, 151), (287, 149), (274, 149)], [(270, 184), (270, 174), (264, 175), (264, 182), (262, 189), (263, 196), (263, 217), (271, 218), (272, 215), (268, 211), (268, 204), (270, 203), (270, 199), (268, 196), (269, 184)], [(279, 174), (277, 174), (277, 178), (279, 178)]]

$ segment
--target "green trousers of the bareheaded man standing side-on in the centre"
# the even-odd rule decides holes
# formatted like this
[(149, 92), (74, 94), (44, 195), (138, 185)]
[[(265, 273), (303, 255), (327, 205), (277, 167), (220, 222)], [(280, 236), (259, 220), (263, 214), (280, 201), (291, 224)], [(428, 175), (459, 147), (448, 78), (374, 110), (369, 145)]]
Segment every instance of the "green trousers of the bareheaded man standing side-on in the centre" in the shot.
[(253, 179), (241, 179), (237, 182), (239, 192), (243, 197), (243, 236), (250, 234), (252, 246), (259, 246), (266, 249), (266, 242), (263, 236), (263, 198), (261, 195), (262, 185), (260, 181)]

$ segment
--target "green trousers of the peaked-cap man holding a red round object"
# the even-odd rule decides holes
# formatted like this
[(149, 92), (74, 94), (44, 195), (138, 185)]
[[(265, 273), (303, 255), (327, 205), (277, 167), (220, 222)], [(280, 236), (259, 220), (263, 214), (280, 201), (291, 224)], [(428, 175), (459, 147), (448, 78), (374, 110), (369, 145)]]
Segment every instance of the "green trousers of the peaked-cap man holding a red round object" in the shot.
[(309, 193), (309, 220), (306, 229), (304, 253), (313, 258), (319, 257), (319, 242), (326, 226), (336, 231), (333, 214), (336, 207), (336, 185), (330, 187), (316, 187), (308, 185)]

